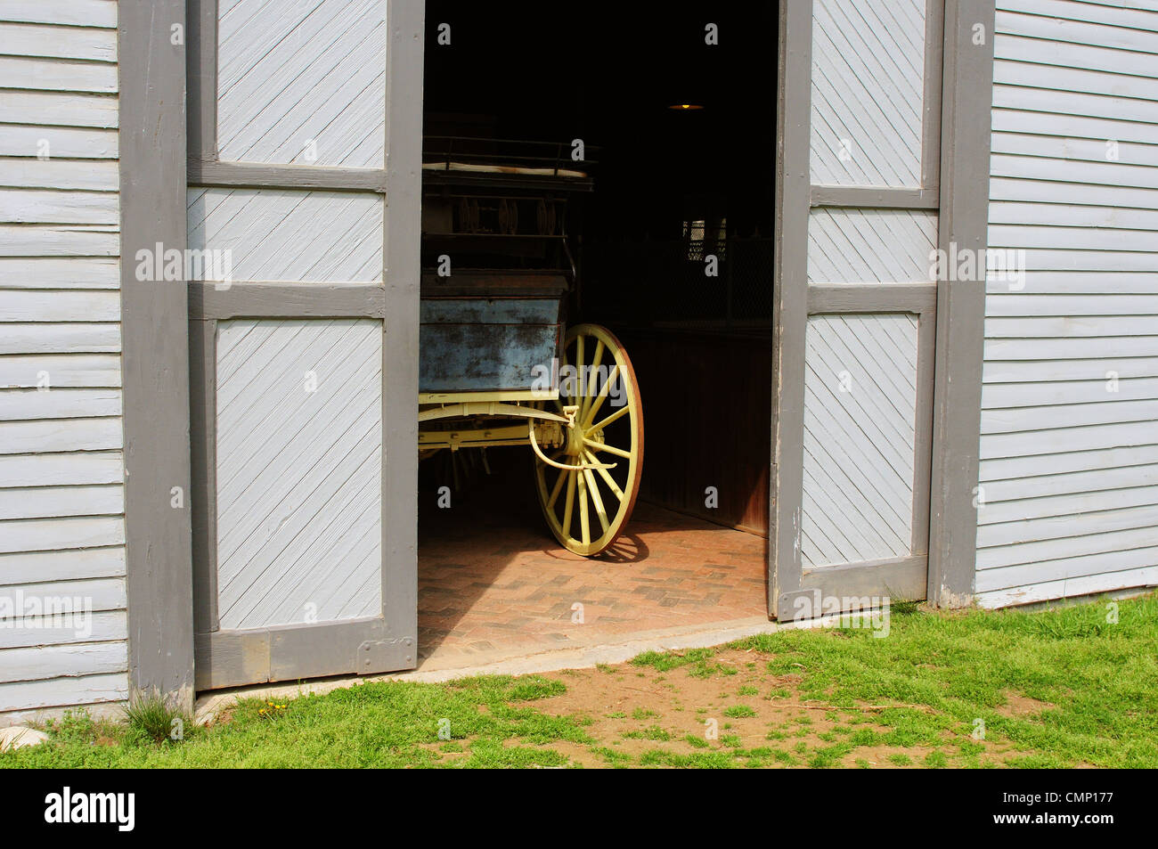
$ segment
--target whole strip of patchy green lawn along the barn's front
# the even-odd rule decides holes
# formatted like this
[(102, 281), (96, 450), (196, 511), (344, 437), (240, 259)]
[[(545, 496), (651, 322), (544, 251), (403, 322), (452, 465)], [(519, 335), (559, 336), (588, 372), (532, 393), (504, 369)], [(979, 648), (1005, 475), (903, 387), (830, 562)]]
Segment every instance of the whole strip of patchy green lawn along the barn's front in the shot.
[[(587, 763), (610, 767), (1155, 768), (1158, 595), (1117, 606), (1116, 623), (1107, 621), (1105, 602), (946, 615), (913, 607), (893, 619), (887, 638), (868, 629), (787, 630), (718, 649), (648, 652), (632, 666), (603, 669), (616, 675), (613, 687), (625, 671), (646, 672), (653, 681), (662, 673), (676, 687), (665, 698), (688, 701), (677, 687), (683, 675), (712, 678), (728, 698), (741, 687), (756, 696), (758, 679), (758, 691), (774, 686), (775, 698), (787, 705), (829, 709), (782, 713), (775, 723), (740, 722), (719, 740), (658, 725), (596, 732), (591, 717), (536, 708), (566, 693), (562, 674), (484, 676), (250, 698), (210, 727), (185, 722), (184, 739), (173, 739), (177, 717), (167, 705), (139, 700), (125, 722), (80, 712), (50, 723), (47, 744), (0, 753), (0, 767), (559, 767), (573, 761), (558, 749), (578, 746), (589, 754)], [(747, 651), (756, 661), (743, 680), (732, 678), (735, 664), (720, 663), (725, 650)], [(756, 703), (763, 707), (733, 703), (710, 711), (689, 703), (689, 718), (717, 711), (760, 716), (776, 704), (758, 696)], [(665, 705), (628, 710), (642, 726), (657, 716), (648, 708)], [(983, 740), (973, 737), (979, 719)], [(624, 738), (648, 748), (617, 752)], [(878, 747), (892, 751), (885, 755)]]

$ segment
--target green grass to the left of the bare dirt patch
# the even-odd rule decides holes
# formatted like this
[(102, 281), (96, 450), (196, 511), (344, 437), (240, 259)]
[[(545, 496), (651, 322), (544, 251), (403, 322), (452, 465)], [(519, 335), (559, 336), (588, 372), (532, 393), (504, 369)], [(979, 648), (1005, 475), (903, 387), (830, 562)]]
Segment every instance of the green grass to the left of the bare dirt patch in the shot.
[[(252, 698), (179, 744), (72, 715), (50, 725), (49, 744), (0, 754), (0, 767), (555, 767), (567, 759), (550, 744), (594, 742), (582, 718), (528, 707), (564, 689), (534, 675), (372, 682), (279, 700), (286, 707), (265, 713), (267, 702)], [(448, 742), (466, 754), (453, 756)]]

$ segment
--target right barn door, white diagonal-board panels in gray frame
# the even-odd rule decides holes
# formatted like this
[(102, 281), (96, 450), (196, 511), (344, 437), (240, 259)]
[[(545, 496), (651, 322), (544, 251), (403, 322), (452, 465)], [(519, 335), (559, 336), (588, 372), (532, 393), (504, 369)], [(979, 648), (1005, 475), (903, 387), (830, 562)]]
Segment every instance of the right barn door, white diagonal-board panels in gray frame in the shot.
[(924, 599), (943, 0), (780, 6), (769, 609)]

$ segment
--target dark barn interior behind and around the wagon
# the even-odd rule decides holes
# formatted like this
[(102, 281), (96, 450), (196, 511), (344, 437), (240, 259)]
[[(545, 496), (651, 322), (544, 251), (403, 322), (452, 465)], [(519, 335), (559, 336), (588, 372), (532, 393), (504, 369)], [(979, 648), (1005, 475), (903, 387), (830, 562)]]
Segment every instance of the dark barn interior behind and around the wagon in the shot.
[[(593, 176), (594, 190), (567, 219), (581, 280), (567, 321), (608, 327), (635, 365), (646, 445), (638, 522), (676, 527), (667, 512), (675, 511), (747, 532), (739, 548), (758, 561), (760, 576), (777, 17), (776, 3), (426, 3), (426, 136), (584, 142), (585, 161), (573, 167)], [(705, 41), (709, 23), (717, 44)], [(527, 454), (488, 451), (491, 474), (460, 503), (475, 503), (475, 532), (527, 529), (542, 552), (552, 541)], [(449, 464), (423, 463), (420, 561), (467, 520), (432, 508)], [(482, 470), (477, 458), (460, 471), (470, 468)], [(503, 546), (498, 536), (474, 539)], [(763, 587), (748, 592), (762, 609)]]

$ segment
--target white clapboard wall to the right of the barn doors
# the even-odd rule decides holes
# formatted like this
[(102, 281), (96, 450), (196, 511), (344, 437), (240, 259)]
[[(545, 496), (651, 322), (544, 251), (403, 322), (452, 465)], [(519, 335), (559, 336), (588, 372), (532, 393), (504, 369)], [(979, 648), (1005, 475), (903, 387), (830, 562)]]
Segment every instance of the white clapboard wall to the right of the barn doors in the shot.
[(994, 46), (989, 243), (1027, 271), (988, 286), (977, 598), (1155, 584), (1158, 6), (999, 0)]

